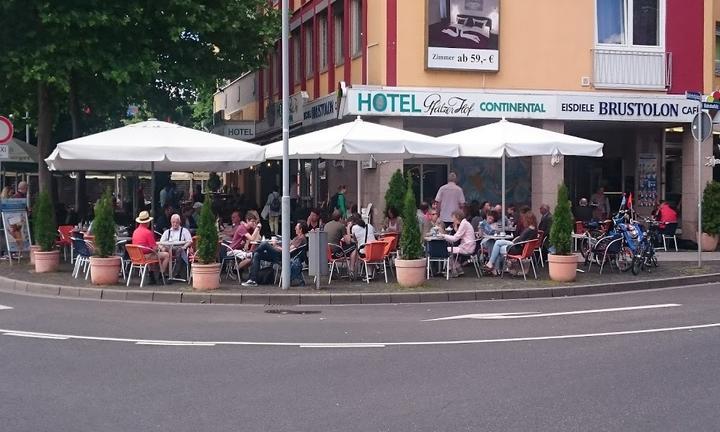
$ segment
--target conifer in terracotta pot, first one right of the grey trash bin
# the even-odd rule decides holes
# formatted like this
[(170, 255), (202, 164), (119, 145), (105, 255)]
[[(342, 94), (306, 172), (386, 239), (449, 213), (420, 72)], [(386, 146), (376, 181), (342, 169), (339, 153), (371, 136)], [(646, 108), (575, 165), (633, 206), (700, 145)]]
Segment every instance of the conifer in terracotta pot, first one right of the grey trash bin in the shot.
[(416, 287), (425, 281), (425, 257), (416, 217), (417, 207), (408, 175), (407, 189), (402, 206), (403, 229), (400, 236), (400, 256), (395, 260), (395, 270), (400, 286)]

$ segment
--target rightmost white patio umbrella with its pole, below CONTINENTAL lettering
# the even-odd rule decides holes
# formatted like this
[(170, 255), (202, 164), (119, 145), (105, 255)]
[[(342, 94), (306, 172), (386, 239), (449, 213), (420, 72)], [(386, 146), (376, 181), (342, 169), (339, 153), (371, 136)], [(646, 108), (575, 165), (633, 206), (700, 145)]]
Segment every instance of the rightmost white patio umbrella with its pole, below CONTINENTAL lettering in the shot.
[(505, 119), (485, 126), (437, 138), (457, 145), (461, 157), (502, 158), (502, 207), (505, 209), (505, 156), (602, 157), (603, 143), (509, 122)]

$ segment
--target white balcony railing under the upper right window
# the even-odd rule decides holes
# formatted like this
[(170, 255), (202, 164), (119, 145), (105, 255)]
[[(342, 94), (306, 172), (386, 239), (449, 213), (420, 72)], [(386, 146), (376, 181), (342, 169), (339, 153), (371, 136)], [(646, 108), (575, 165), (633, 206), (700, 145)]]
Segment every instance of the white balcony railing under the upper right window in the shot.
[(672, 58), (658, 51), (593, 50), (596, 88), (666, 90), (671, 84)]

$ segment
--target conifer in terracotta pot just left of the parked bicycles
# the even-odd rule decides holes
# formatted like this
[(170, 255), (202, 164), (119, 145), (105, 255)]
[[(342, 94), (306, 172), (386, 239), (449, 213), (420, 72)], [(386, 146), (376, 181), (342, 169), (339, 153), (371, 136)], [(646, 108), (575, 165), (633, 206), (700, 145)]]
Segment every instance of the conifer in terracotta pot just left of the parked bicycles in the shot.
[(571, 282), (577, 273), (577, 257), (572, 253), (573, 216), (570, 210), (567, 187), (558, 186), (558, 200), (550, 228), (550, 244), (555, 249), (548, 254), (550, 279)]

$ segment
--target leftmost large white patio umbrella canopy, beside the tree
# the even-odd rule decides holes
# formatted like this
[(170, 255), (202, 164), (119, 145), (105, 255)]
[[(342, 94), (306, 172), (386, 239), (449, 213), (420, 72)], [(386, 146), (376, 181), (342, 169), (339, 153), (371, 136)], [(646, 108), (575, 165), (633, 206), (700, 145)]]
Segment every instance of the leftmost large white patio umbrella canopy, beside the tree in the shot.
[(65, 141), (56, 171), (234, 171), (265, 160), (261, 146), (158, 120)]

